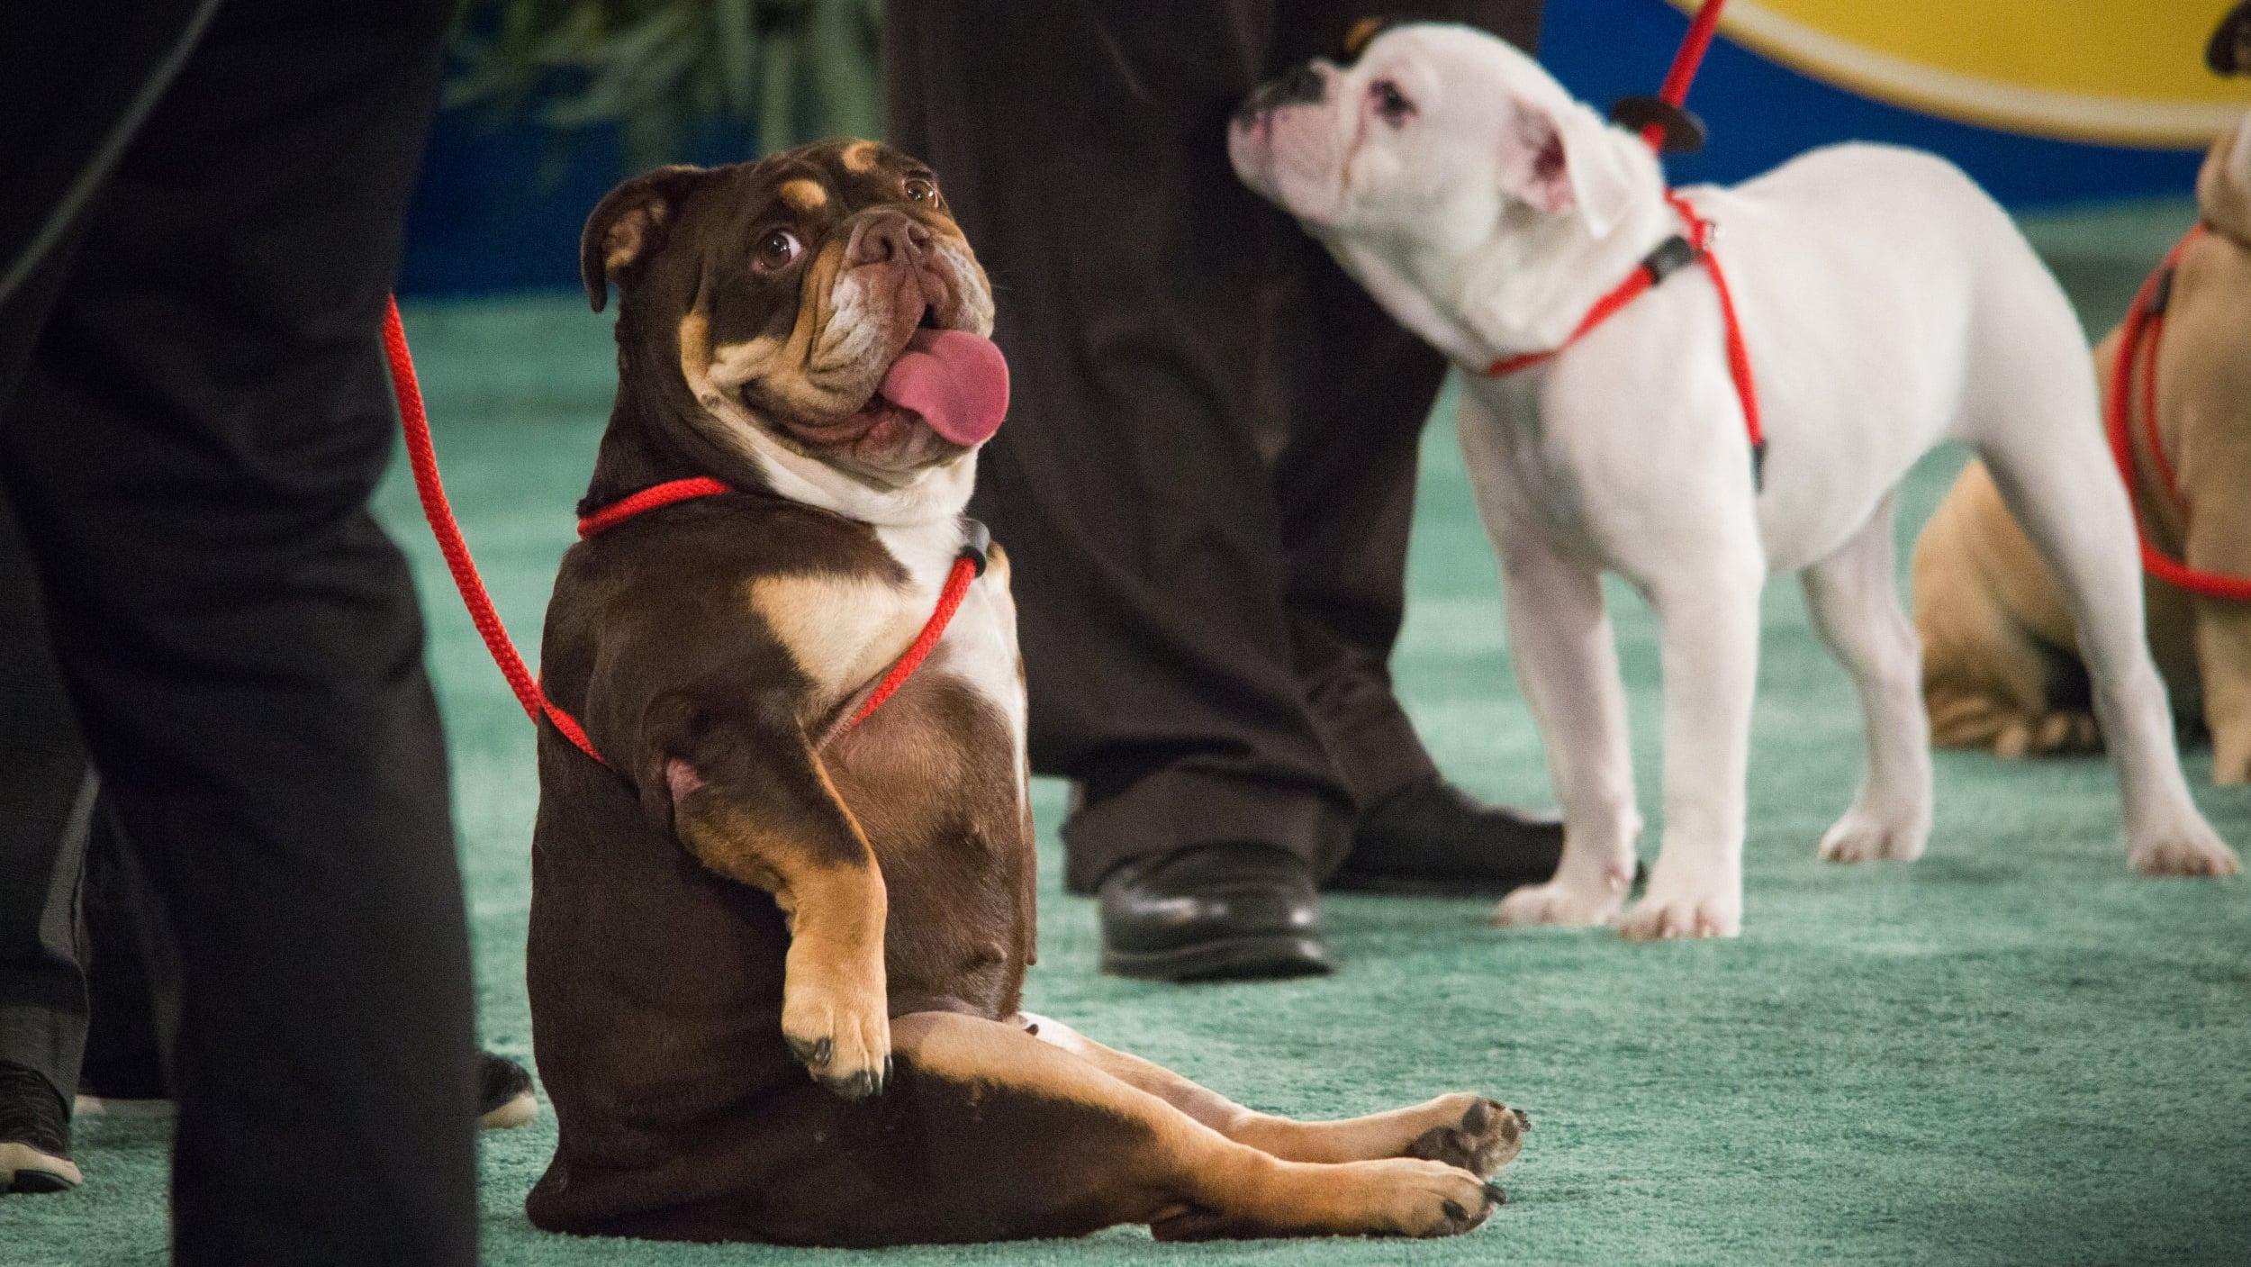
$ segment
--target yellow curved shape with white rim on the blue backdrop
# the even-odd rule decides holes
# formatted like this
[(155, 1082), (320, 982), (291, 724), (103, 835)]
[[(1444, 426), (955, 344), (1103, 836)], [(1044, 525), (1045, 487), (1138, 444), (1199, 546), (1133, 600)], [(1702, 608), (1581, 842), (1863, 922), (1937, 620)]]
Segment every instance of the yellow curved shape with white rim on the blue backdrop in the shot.
[[(1670, 0), (1695, 11), (1697, 0)], [(1925, 115), (2078, 142), (2201, 149), (2251, 108), (2204, 43), (2233, 0), (1729, 0), (1729, 38)]]

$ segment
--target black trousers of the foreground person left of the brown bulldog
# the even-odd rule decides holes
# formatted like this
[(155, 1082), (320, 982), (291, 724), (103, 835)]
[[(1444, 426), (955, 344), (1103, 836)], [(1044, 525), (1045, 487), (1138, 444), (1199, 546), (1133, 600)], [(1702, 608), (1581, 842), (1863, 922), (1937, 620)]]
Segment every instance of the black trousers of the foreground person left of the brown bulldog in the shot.
[(448, 18), (0, 16), (0, 484), (180, 947), (182, 1262), (475, 1260), (443, 743), (367, 511)]

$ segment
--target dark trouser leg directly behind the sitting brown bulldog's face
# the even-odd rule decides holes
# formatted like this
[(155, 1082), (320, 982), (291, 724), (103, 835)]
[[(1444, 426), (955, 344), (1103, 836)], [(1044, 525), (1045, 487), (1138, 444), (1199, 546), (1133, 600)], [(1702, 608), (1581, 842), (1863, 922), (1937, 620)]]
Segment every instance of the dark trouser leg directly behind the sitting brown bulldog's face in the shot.
[[(975, 509), (1017, 565), (1033, 767), (1083, 790), (1078, 891), (1200, 846), (1229, 857), (1175, 887), (1306, 889), (1348, 830), (1258, 443), (1279, 423), (1252, 295), (1297, 230), (1222, 144), (1267, 25), (1265, 0), (889, 7), (894, 140), (939, 171), (999, 297), (1013, 407)], [(1258, 936), (1317, 936), (1310, 889), (1231, 909), (1254, 905)]]

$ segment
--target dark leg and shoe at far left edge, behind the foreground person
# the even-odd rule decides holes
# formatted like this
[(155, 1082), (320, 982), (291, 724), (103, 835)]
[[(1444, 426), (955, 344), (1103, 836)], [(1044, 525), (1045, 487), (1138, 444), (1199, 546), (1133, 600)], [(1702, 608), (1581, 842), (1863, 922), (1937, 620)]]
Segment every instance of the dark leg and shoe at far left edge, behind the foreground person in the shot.
[(79, 864), (95, 785), (0, 495), (0, 1193), (68, 1188), (86, 1051)]

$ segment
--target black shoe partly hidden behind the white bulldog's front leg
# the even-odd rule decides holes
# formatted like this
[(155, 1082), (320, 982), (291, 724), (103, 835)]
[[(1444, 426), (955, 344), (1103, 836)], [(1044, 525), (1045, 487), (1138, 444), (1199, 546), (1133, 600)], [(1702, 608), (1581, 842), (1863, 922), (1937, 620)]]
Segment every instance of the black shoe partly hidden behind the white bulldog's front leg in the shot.
[(1499, 896), (1555, 875), (1562, 819), (1488, 806), (1429, 779), (1360, 815), (1330, 889)]

